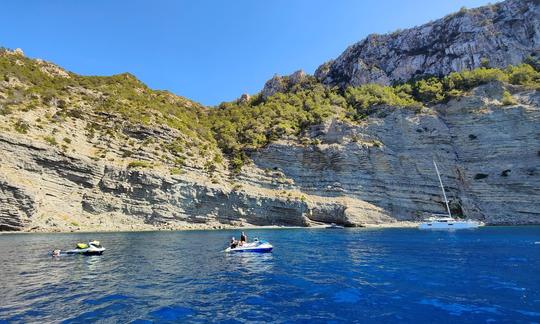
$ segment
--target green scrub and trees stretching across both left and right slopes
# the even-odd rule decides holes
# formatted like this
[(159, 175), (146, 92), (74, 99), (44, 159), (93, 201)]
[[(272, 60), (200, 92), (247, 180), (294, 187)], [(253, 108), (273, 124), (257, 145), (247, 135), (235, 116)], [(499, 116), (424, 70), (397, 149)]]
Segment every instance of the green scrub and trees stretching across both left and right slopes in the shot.
[[(131, 74), (80, 76), (47, 62), (0, 51), (0, 113), (54, 106), (60, 111), (56, 113), (60, 119), (81, 118), (90, 112), (118, 115), (135, 124), (166, 125), (183, 135), (162, 145), (176, 156), (171, 160), (175, 168), (193, 156), (186, 147), (197, 146), (206, 157), (204, 168), (210, 173), (216, 170), (215, 164), (223, 163), (221, 152), (229, 157), (232, 169), (239, 171), (250, 151), (281, 138), (298, 137), (307, 127), (331, 117), (358, 122), (380, 106), (435, 105), (492, 81), (540, 89), (538, 65), (529, 63), (506, 69), (481, 67), (393, 86), (367, 84), (345, 90), (329, 88), (308, 76), (285, 92), (265, 99), (259, 94), (249, 100), (207, 109), (169, 92), (152, 90)], [(505, 105), (515, 103), (510, 93), (505, 93), (502, 100)], [(13, 127), (26, 133), (30, 125), (18, 120)], [(98, 127), (89, 121), (90, 133)], [(130, 155), (126, 153), (123, 157)], [(140, 163), (132, 162), (130, 167), (142, 167)]]

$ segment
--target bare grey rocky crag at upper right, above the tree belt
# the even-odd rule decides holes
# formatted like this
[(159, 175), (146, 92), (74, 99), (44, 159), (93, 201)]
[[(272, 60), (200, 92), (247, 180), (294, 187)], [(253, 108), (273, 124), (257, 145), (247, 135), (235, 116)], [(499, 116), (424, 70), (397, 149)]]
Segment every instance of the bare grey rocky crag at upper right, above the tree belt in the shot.
[(389, 85), (425, 75), (447, 75), (482, 64), (506, 67), (540, 57), (540, 1), (507, 0), (387, 35), (370, 35), (315, 76), (341, 87)]

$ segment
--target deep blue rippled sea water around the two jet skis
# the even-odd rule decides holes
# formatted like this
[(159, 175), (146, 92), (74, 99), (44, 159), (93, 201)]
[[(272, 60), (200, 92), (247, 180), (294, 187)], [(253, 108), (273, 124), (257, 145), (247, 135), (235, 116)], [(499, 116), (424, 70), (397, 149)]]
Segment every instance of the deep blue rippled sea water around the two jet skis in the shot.
[[(231, 235), (0, 235), (0, 322), (540, 322), (540, 227)], [(103, 256), (48, 256), (90, 239)]]

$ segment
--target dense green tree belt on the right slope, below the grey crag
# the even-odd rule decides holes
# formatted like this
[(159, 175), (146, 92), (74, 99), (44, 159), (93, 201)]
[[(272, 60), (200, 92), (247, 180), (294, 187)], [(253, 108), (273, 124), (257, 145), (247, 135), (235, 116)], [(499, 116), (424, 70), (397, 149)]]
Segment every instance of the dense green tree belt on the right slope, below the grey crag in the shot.
[[(246, 151), (279, 138), (298, 136), (306, 127), (331, 116), (359, 121), (381, 105), (416, 108), (439, 104), (492, 81), (540, 89), (540, 72), (529, 64), (506, 69), (481, 67), (442, 78), (411, 80), (394, 86), (366, 84), (345, 91), (309, 79), (265, 100), (258, 95), (246, 102), (222, 103), (210, 111), (209, 120), (219, 147), (234, 157), (233, 166), (238, 169)], [(511, 102), (508, 97), (504, 101)]]

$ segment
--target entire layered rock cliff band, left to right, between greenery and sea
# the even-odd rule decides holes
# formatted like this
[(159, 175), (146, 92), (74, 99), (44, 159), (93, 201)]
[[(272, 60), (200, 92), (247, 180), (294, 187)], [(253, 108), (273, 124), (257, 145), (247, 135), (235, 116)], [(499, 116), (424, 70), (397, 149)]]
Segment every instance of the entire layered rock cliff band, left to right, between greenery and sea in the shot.
[[(510, 90), (516, 105), (503, 105)], [(364, 123), (311, 127), (227, 181), (188, 169), (130, 169), (0, 135), (2, 230), (349, 226), (418, 221), (451, 208), (488, 224), (539, 224), (540, 95), (491, 83), (420, 110), (381, 107)], [(217, 179), (217, 181), (216, 181)]]

